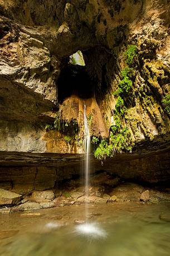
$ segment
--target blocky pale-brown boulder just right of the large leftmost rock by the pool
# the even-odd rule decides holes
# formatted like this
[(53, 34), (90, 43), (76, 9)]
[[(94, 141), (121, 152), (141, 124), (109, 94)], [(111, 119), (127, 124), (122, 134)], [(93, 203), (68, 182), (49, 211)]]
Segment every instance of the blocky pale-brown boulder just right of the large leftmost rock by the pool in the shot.
[(35, 199), (36, 202), (50, 202), (55, 198), (55, 194), (52, 190), (44, 190), (38, 191), (35, 190), (32, 192), (32, 198)]

